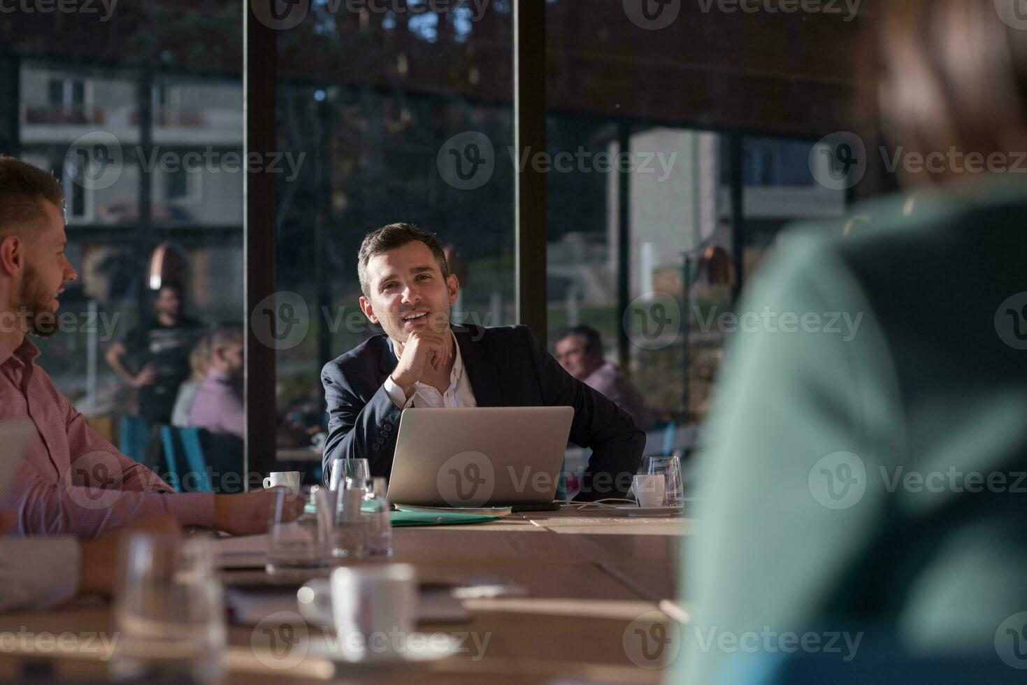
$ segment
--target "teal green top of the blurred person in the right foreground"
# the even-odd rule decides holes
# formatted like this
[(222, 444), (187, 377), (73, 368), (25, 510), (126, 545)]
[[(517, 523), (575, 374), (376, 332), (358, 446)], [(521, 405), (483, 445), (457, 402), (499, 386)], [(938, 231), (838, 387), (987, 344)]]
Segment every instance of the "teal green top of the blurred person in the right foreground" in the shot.
[(782, 239), (698, 456), (675, 681), (738, 682), (826, 621), (995, 656), (1027, 611), (1022, 188), (921, 197), (909, 218), (889, 199), (847, 236)]

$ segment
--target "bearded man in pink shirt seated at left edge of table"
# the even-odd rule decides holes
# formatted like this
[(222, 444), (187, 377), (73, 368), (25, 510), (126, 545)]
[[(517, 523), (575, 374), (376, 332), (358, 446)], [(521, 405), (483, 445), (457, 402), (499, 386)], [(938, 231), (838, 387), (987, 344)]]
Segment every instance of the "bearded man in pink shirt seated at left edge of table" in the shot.
[(26, 334), (56, 332), (58, 298), (78, 276), (65, 257), (63, 206), (52, 176), (0, 155), (0, 418), (27, 417), (37, 430), (0, 511), (22, 535), (91, 538), (158, 515), (236, 535), (267, 530), (275, 493), (174, 494), (93, 431), (36, 366)]

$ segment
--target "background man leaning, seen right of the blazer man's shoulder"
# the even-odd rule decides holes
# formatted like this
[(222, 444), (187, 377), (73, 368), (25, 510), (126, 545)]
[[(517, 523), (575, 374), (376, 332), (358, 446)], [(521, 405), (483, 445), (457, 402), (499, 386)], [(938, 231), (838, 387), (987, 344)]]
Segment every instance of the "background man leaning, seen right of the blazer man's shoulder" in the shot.
[(645, 399), (616, 367), (603, 359), (599, 331), (588, 326), (566, 329), (557, 336), (556, 352), (557, 361), (567, 373), (602, 392), (631, 416), (640, 429), (652, 428), (655, 417)]

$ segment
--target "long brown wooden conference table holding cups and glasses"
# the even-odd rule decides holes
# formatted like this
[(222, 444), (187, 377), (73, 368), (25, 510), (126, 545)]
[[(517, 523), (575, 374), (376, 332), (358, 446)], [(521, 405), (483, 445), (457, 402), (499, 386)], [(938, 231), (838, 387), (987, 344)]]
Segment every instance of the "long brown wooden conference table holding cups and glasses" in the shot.
[[(643, 631), (659, 636), (677, 630), (668, 613), (682, 618), (667, 600), (675, 597), (678, 549), (690, 525), (682, 517), (629, 518), (564, 507), (474, 526), (393, 529), (392, 561), (414, 564), (422, 582), (497, 577), (527, 591), (521, 597), (464, 600), (470, 620), (463, 623), (418, 626), (424, 633), (477, 634), (484, 648), (468, 640), (465, 653), (413, 670), (336, 668), (312, 655), (294, 668), (272, 669), (252, 646), (253, 626), (229, 625), (225, 682), (657, 683), (665, 674), (654, 650), (644, 650), (640, 640)], [(226, 572), (231, 573), (239, 572)], [(96, 601), (0, 615), (0, 636), (98, 632), (113, 635), (113, 624), (109, 606)], [(79, 642), (84, 645), (84, 638)], [(2, 642), (0, 649), (8, 651)], [(107, 679), (108, 664), (96, 653), (52, 649), (35, 660), (50, 664), (55, 680)], [(0, 681), (16, 678), (26, 663), (24, 654), (0, 654)]]

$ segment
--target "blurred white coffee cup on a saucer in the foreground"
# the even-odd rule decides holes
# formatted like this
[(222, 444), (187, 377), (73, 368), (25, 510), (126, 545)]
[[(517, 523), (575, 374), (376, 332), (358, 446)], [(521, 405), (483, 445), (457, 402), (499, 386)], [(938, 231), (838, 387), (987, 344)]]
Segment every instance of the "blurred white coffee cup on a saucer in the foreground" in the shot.
[(297, 593), (308, 621), (334, 627), (350, 661), (395, 658), (417, 619), (417, 570), (410, 564), (340, 566)]

